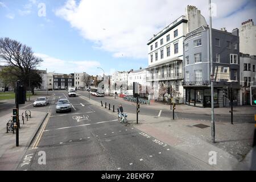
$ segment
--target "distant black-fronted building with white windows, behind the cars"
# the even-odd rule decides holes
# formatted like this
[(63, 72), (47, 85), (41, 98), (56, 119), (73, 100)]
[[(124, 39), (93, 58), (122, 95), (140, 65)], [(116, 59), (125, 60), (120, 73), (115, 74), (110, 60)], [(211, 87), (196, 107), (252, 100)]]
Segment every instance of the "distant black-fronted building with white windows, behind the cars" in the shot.
[(53, 75), (53, 89), (67, 90), (74, 86), (74, 73)]

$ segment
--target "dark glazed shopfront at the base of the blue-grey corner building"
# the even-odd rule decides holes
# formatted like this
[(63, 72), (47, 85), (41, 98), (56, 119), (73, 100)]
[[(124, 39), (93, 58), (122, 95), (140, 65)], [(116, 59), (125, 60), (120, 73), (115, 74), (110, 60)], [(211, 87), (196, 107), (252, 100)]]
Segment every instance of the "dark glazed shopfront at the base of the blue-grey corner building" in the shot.
[[(220, 89), (214, 89), (214, 107), (219, 107)], [(210, 88), (186, 88), (185, 104), (197, 107), (211, 107)]]

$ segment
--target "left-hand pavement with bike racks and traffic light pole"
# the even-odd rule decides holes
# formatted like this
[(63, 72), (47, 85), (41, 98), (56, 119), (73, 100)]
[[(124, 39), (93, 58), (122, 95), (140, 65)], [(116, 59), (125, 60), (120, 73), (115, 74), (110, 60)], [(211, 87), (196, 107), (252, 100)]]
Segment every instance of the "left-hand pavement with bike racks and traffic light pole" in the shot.
[[(1, 101), (0, 104), (0, 171), (2, 170), (15, 170), (18, 167), (19, 160), (27, 151), (34, 136), (36, 135), (40, 125), (46, 117), (47, 110), (50, 105), (45, 107), (33, 107), (32, 102), (38, 96), (32, 96), (30, 101), (24, 105), (19, 105), (19, 114), (25, 113), (26, 110), (31, 111), (31, 118), (24, 117), (24, 125), (22, 117), (20, 116), (20, 129), (19, 129), (19, 146), (16, 147), (16, 131), (6, 133), (6, 123), (11, 119), (13, 108), (15, 107), (14, 100)], [(3, 109), (4, 108), (4, 109)], [(24, 115), (24, 114), (23, 114)]]

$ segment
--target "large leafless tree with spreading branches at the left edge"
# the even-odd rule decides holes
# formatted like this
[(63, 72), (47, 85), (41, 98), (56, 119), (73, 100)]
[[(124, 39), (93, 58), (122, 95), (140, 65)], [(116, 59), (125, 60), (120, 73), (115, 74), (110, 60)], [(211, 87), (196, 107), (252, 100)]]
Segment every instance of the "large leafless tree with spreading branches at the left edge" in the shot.
[(10, 67), (19, 69), (19, 80), (23, 82), (25, 90), (31, 84), (32, 69), (43, 61), (34, 56), (31, 47), (10, 38), (0, 38), (0, 59)]

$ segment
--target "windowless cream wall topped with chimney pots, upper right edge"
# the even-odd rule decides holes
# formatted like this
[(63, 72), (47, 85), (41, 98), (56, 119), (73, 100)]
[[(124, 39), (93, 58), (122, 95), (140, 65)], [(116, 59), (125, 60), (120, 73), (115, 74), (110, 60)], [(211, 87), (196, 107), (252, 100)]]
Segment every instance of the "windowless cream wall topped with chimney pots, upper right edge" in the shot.
[(256, 55), (256, 26), (252, 19), (243, 22), (240, 30), (240, 52)]

